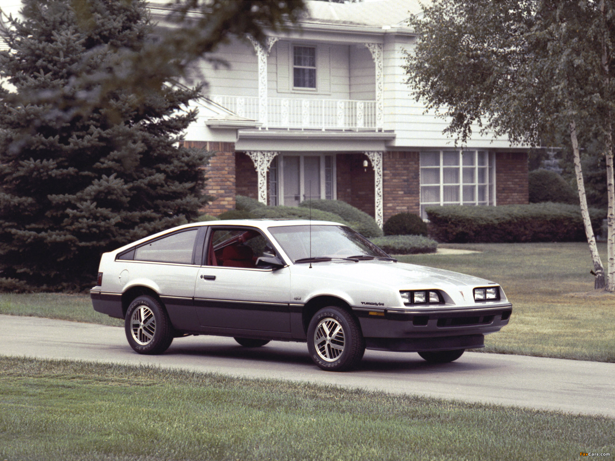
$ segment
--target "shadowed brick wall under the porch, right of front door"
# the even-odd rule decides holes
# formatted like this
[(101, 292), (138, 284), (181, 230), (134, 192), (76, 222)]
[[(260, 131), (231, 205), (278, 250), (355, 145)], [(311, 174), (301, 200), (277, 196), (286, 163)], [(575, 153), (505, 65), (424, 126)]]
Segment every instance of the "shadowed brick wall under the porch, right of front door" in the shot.
[[(365, 154), (338, 154), (336, 157), (336, 180), (338, 200), (375, 215), (374, 170), (371, 163), (363, 168)], [(366, 171), (367, 170), (367, 171)]]

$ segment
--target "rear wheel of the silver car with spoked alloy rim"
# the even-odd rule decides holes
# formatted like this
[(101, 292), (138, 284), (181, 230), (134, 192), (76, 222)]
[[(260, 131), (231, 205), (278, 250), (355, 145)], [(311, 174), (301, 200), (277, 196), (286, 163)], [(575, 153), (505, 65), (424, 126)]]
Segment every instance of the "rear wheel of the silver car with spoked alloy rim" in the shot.
[(135, 298), (126, 311), (124, 331), (135, 352), (155, 355), (169, 349), (173, 327), (160, 301), (152, 296)]

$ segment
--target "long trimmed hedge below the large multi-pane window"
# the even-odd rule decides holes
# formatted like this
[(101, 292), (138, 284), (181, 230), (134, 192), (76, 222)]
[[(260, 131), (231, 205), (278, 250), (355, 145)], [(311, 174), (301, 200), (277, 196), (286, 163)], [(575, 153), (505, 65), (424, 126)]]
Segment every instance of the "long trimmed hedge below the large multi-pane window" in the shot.
[[(500, 207), (430, 207), (431, 237), (438, 242), (582, 242), (581, 208), (564, 203), (530, 203)], [(590, 208), (594, 232), (604, 210)]]

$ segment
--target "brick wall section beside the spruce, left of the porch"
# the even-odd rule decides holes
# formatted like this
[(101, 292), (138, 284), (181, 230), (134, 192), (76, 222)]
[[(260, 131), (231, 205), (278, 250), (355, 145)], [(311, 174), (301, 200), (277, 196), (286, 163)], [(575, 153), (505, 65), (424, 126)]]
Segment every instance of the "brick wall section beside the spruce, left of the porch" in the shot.
[(220, 215), (235, 209), (235, 144), (209, 143), (205, 141), (185, 141), (188, 148), (207, 149), (215, 152), (205, 168), (205, 194), (213, 200), (202, 209), (207, 215)]

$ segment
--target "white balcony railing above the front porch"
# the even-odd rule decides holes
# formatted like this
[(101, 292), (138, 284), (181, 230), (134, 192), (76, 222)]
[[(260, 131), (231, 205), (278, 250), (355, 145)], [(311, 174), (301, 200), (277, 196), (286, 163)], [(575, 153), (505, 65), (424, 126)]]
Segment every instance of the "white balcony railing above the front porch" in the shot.
[(258, 97), (209, 97), (240, 117), (258, 120), (263, 128), (305, 130), (376, 130), (376, 101), (268, 98), (267, 119), (259, 119)]

